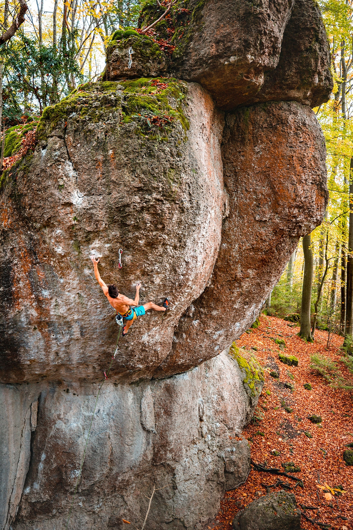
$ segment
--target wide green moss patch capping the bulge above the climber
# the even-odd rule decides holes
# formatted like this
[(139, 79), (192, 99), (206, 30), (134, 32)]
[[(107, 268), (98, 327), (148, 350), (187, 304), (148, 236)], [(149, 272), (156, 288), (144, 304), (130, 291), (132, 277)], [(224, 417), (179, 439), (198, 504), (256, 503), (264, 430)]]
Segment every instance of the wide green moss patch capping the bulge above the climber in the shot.
[[(78, 119), (93, 123), (107, 121), (111, 115), (120, 117), (119, 125), (134, 122), (135, 132), (152, 133), (158, 139), (168, 134), (179, 121), (186, 132), (189, 123), (182, 103), (186, 97), (185, 83), (174, 78), (140, 78), (131, 81), (105, 81), (80, 85), (66, 98), (44, 109), (38, 133), (50, 124), (54, 129), (75, 114)], [(160, 134), (162, 133), (162, 134)]]

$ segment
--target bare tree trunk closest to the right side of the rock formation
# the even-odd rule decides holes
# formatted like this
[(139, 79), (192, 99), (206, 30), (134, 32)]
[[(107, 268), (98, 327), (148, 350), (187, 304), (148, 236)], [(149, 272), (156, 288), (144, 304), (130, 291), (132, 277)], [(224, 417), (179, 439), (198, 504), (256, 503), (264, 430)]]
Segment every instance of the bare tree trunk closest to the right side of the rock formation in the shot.
[(311, 325), (310, 325), (310, 311), (311, 311), (311, 289), (313, 285), (313, 251), (311, 248), (311, 235), (308, 234), (303, 237), (303, 252), (304, 252), (304, 276), (303, 276), (303, 290), (302, 290), (302, 307), (300, 311), (300, 332), (299, 336), (312, 342)]

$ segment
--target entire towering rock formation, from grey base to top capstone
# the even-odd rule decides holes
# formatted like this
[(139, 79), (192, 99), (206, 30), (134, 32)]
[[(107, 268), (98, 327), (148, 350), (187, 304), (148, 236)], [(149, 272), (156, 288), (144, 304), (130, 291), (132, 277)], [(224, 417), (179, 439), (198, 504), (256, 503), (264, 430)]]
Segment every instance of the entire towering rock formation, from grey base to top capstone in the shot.
[[(157, 12), (147, 4), (142, 26)], [(324, 215), (310, 107), (331, 90), (328, 43), (309, 0), (180, 13), (173, 55), (149, 37), (113, 41), (106, 81), (46, 109), (34, 154), (3, 175), (6, 530), (66, 525), (117, 338), (92, 253), (106, 283), (134, 297), (141, 281), (141, 303), (168, 296), (170, 310), (119, 340), (69, 527), (141, 527), (155, 484), (146, 528), (201, 530), (247, 476), (238, 435), (262, 382), (243, 383), (229, 346)]]

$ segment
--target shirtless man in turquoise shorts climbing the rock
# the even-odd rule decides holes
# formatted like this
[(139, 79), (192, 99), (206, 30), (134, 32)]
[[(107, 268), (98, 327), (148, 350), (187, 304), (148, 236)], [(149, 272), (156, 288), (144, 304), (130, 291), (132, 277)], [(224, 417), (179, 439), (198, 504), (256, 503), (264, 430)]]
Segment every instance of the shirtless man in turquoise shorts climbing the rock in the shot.
[(94, 256), (91, 256), (90, 259), (93, 261), (94, 275), (96, 277), (96, 280), (98, 284), (102, 287), (103, 293), (107, 297), (108, 302), (111, 306), (114, 307), (117, 314), (121, 315), (125, 320), (128, 321), (123, 327), (123, 337), (124, 335), (126, 335), (126, 333), (128, 333), (131, 324), (134, 320), (137, 319), (138, 316), (144, 315), (149, 309), (154, 309), (155, 311), (166, 311), (166, 309), (168, 308), (168, 298), (165, 298), (162, 307), (153, 304), (153, 302), (148, 302), (147, 304), (139, 305), (139, 292), (141, 287), (140, 283), (138, 283), (136, 286), (136, 296), (134, 300), (120, 294), (119, 290), (117, 290), (115, 285), (105, 285), (98, 271), (97, 263), (99, 262), (99, 258), (96, 260)]

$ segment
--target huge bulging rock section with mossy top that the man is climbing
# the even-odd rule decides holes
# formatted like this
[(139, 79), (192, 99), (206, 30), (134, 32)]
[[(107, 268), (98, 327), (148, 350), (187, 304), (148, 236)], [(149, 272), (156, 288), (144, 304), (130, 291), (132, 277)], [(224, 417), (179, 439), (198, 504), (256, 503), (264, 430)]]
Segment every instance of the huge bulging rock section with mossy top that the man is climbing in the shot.
[(223, 115), (199, 85), (166, 86), (80, 87), (43, 113), (34, 155), (5, 173), (3, 382), (103, 376), (118, 326), (90, 254), (123, 294), (134, 298), (141, 281), (141, 304), (173, 301), (120, 339), (119, 381), (151, 377), (204, 290), (227, 210)]

